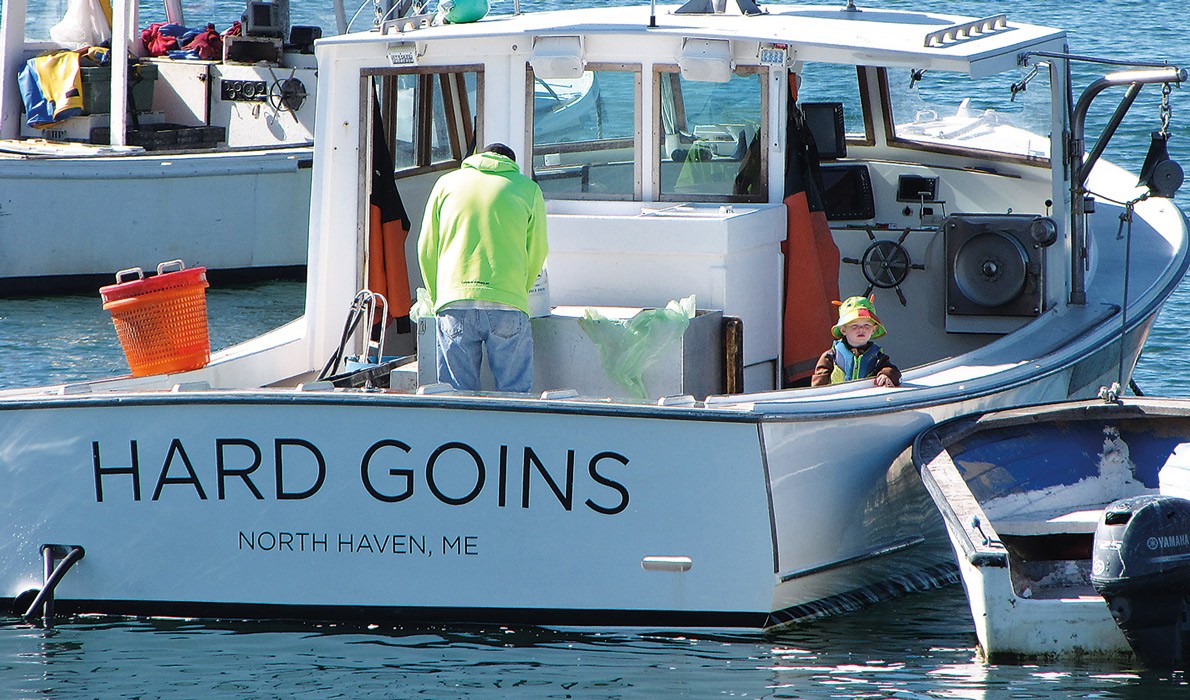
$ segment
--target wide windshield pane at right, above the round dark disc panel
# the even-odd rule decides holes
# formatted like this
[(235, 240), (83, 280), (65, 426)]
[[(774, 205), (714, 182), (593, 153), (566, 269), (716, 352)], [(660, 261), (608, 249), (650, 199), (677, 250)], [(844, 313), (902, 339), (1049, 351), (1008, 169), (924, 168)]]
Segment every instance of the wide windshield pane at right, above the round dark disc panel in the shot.
[[(1050, 74), (1036, 71), (1021, 90), (1020, 81), (1026, 75), (1007, 73), (976, 80), (957, 73), (888, 70), (882, 87), (884, 101), (891, 107), (885, 114), (894, 135), (890, 143), (1048, 163)], [(910, 89), (902, 89), (910, 82)], [(890, 90), (889, 85), (897, 89)]]

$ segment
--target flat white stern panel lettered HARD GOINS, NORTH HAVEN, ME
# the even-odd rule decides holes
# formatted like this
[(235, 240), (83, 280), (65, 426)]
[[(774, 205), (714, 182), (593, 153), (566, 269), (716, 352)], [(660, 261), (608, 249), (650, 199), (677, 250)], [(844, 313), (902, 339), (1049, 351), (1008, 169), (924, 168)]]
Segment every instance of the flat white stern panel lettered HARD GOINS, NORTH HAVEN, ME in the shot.
[[(4, 595), (39, 587), (52, 542), (87, 552), (60, 607), (763, 624), (772, 544), (754, 424), (333, 399), (330, 412), (327, 396), (292, 394), (0, 412), (20, 482), (4, 510), (21, 523), (0, 545)], [(220, 480), (220, 464), (257, 455), (251, 475)], [(650, 556), (693, 567), (646, 570)], [(314, 611), (346, 606), (368, 611)]]

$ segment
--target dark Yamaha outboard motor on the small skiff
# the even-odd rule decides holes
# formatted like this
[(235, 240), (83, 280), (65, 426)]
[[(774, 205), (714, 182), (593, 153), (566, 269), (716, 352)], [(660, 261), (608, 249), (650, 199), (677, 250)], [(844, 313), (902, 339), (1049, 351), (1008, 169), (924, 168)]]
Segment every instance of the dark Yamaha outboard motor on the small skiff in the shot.
[(1119, 500), (1095, 530), (1091, 583), (1152, 668), (1190, 661), (1190, 501), (1167, 495)]

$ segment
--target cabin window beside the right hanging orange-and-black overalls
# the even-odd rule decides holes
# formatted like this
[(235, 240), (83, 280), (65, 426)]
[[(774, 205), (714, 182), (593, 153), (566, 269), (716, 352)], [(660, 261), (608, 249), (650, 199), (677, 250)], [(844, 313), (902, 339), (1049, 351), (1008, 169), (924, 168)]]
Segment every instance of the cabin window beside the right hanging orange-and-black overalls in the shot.
[(768, 70), (737, 68), (727, 82), (657, 69), (657, 190), (662, 200), (765, 201)]

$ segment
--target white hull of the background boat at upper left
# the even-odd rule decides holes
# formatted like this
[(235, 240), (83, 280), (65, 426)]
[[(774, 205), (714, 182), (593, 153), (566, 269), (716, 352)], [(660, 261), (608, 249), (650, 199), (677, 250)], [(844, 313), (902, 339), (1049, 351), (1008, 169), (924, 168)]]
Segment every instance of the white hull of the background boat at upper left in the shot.
[(209, 270), (300, 270), (311, 162), (308, 148), (0, 157), (0, 290), (94, 290), (118, 270), (170, 260)]

